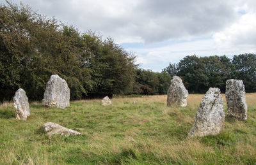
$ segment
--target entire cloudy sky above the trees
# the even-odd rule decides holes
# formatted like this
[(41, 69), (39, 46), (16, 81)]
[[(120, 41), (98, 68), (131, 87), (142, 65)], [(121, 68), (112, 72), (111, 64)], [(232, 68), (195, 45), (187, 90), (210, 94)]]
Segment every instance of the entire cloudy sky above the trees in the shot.
[[(140, 68), (161, 72), (187, 55), (256, 53), (255, 0), (9, 0), (111, 37), (137, 56)], [(0, 0), (1, 4), (6, 4)]]

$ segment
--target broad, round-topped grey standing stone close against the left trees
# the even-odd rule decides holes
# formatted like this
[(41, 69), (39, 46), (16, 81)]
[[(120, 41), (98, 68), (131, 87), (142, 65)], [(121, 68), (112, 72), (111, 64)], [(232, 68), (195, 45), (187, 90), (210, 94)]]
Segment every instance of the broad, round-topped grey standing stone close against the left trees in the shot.
[(52, 75), (46, 84), (43, 105), (65, 109), (69, 106), (69, 99), (70, 92), (67, 82), (58, 75)]

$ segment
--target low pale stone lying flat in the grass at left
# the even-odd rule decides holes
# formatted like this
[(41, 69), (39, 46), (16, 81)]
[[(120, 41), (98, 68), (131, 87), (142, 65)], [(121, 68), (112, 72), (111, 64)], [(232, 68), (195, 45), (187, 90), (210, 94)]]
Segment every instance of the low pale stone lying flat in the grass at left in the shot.
[(66, 127), (60, 126), (59, 124), (55, 124), (52, 122), (47, 122), (42, 126), (42, 129), (48, 136), (52, 136), (53, 134), (60, 134), (61, 136), (76, 136), (81, 135), (81, 133), (74, 131), (72, 129), (67, 129)]

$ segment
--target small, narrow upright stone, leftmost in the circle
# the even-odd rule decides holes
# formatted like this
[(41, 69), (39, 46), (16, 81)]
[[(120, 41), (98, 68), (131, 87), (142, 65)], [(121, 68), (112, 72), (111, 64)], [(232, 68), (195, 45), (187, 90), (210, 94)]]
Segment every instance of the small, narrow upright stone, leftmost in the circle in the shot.
[(30, 115), (28, 97), (23, 89), (18, 89), (13, 97), (15, 108), (15, 117), (19, 120), (27, 120)]

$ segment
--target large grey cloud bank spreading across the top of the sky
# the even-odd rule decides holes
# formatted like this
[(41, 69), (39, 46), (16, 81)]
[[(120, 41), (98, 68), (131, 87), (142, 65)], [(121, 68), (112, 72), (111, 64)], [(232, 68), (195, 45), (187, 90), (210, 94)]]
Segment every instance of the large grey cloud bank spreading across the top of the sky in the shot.
[(81, 31), (92, 29), (120, 43), (204, 36), (236, 19), (236, 3), (232, 0), (23, 0), (22, 3), (76, 25)]

